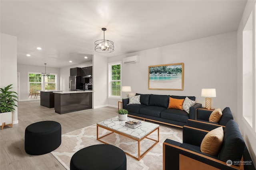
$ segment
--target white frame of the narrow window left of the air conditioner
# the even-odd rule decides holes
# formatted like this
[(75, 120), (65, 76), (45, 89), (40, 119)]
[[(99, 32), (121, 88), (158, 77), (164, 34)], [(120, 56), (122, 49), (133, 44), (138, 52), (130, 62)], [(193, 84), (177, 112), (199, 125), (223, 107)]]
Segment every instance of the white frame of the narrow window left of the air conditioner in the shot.
[[(112, 96), (112, 65), (120, 64), (120, 96)], [(114, 63), (108, 63), (108, 98), (121, 99), (122, 98), (122, 62), (117, 61)]]

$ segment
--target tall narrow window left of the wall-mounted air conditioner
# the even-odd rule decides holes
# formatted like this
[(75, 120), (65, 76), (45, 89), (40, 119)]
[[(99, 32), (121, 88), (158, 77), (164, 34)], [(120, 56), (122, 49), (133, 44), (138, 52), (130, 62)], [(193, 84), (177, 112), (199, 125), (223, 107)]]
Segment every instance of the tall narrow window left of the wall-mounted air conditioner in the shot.
[(121, 63), (112, 63), (108, 66), (109, 72), (109, 97), (121, 97)]

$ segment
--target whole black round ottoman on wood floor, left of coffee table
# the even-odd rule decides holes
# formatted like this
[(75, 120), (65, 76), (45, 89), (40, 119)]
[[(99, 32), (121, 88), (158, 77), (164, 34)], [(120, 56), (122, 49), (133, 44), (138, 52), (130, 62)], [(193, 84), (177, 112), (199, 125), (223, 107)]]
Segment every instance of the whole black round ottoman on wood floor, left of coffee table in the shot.
[(56, 121), (40, 121), (26, 127), (25, 151), (40, 155), (57, 149), (61, 144), (61, 125)]

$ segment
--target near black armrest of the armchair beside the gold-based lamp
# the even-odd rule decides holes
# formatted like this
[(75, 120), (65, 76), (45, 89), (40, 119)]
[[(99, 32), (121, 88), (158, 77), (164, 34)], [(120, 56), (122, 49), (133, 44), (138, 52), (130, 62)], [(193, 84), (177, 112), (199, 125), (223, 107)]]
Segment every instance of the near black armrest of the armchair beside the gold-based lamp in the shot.
[[(217, 127), (220, 127), (222, 125), (218, 125), (218, 124), (214, 124), (214, 123), (210, 123), (210, 122), (188, 119), (188, 126), (189, 127), (195, 127), (195, 128), (198, 128), (198, 129), (204, 129), (206, 131), (211, 131), (212, 129), (216, 129)], [(225, 126), (222, 126), (222, 127), (225, 127)]]

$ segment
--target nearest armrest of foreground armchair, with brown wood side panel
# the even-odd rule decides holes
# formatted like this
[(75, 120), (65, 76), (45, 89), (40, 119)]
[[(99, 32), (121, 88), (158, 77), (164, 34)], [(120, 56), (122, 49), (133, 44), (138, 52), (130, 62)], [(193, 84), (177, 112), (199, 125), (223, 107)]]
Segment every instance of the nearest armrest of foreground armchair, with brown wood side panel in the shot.
[[(183, 167), (181, 167), (183, 166)], [(240, 170), (243, 167), (228, 166), (226, 162), (220, 161), (211, 156), (184, 149), (168, 142), (163, 143), (163, 169), (179, 170), (181, 168), (190, 170), (207, 170), (213, 167), (222, 170)]]

